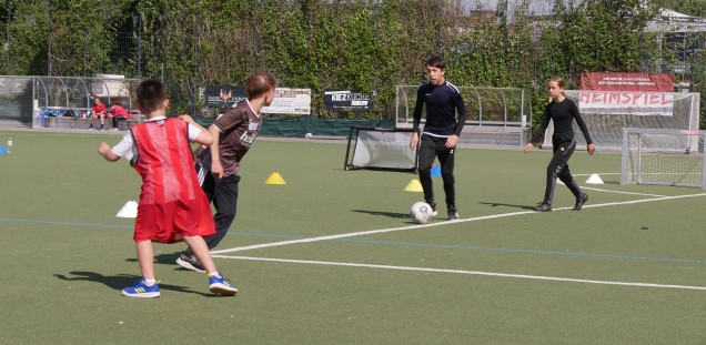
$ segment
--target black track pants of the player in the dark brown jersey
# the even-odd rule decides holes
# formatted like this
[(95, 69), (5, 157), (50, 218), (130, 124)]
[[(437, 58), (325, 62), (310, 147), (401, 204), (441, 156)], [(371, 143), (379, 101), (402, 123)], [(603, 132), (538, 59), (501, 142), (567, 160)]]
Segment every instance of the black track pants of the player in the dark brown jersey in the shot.
[[(214, 248), (221, 240), (225, 237), (225, 233), (228, 233), (228, 230), (235, 220), (239, 182), (239, 175), (231, 175), (218, 181), (210, 172), (206, 172), (204, 176), (202, 185), (203, 192), (206, 199), (213, 202), (213, 206), (215, 207), (215, 215), (213, 216), (215, 221), (215, 234), (203, 237), (209, 250)], [(186, 248), (183, 253), (185, 255), (193, 255), (191, 248)]]

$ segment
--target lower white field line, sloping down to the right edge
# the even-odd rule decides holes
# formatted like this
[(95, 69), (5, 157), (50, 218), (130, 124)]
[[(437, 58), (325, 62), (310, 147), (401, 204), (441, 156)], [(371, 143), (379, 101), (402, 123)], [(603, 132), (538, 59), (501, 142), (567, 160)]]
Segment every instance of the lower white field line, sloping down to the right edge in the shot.
[(598, 284), (598, 285), (621, 285), (621, 286), (632, 286), (632, 287), (657, 287), (657, 288), (678, 288), (678, 290), (706, 291), (706, 286), (653, 284), (653, 283), (635, 283), (635, 282), (593, 281), (593, 280), (564, 278), (564, 277), (555, 277), (555, 276), (527, 275), (527, 274), (508, 274), (508, 273), (495, 273), (495, 272), (482, 272), (482, 271), (425, 268), (425, 267), (410, 267), (410, 266), (373, 265), (373, 264), (356, 264), (356, 263), (325, 262), (325, 261), (310, 261), (310, 260), (285, 260), (285, 258), (252, 257), (252, 256), (213, 255), (213, 257), (233, 258), (233, 260), (248, 260), (248, 261), (265, 261), (265, 262), (276, 262), (276, 263), (310, 264), (310, 265), (331, 265), (331, 266), (365, 267), (365, 268), (396, 270), (396, 271), (467, 274), (467, 275), (496, 276), (496, 277), (535, 280), (535, 281), (552, 281), (552, 282), (567, 282), (567, 283), (583, 283), (583, 284)]

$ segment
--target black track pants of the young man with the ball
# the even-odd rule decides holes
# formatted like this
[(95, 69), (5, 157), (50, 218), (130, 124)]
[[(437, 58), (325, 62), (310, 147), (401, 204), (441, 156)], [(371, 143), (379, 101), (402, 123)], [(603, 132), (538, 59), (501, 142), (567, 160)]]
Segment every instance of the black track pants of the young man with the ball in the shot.
[(420, 182), (424, 190), (424, 201), (435, 206), (434, 183), (432, 182), (432, 165), (434, 159), (438, 158), (441, 164), (442, 180), (444, 181), (444, 192), (446, 193), (446, 207), (456, 207), (456, 192), (454, 186), (454, 154), (456, 148), (446, 149), (446, 138), (436, 138), (422, 134), (420, 144)]

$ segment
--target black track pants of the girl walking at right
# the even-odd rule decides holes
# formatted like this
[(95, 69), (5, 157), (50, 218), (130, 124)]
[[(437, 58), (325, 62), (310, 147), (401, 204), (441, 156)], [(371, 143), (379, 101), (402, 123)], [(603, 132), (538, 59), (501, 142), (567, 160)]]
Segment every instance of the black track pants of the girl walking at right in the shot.
[(549, 165), (546, 166), (546, 190), (544, 192), (544, 203), (551, 205), (554, 197), (554, 187), (556, 186), (556, 179), (558, 177), (566, 186), (574, 193), (574, 196), (581, 196), (581, 187), (578, 183), (572, 176), (568, 170), (568, 159), (574, 154), (576, 150), (576, 139), (568, 140), (552, 138), (552, 150), (554, 156), (549, 161)]

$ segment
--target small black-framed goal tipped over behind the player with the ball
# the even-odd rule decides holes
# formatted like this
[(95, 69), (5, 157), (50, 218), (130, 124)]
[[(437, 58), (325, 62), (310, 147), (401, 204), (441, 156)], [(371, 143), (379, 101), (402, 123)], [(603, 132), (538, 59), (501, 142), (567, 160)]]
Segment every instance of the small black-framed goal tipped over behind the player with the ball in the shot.
[(344, 170), (416, 171), (417, 151), (410, 149), (412, 129), (352, 126)]

